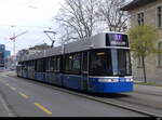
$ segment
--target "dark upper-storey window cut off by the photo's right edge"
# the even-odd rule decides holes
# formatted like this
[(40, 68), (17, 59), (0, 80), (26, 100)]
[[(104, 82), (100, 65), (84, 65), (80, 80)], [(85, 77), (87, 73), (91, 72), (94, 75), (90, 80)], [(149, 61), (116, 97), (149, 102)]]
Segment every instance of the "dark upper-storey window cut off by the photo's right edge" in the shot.
[(157, 8), (158, 27), (162, 27), (162, 6)]

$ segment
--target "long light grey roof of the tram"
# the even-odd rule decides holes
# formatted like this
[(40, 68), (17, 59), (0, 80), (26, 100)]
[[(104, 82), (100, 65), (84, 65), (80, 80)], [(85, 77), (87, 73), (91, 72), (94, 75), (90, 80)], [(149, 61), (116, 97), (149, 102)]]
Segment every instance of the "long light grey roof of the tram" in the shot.
[(38, 52), (36, 54), (25, 55), (25, 56), (21, 57), (19, 62), (39, 59), (42, 57), (50, 57), (53, 55), (62, 55), (62, 54), (80, 52), (80, 51), (86, 51), (86, 50), (91, 50), (91, 49), (104, 48), (106, 34), (125, 35), (122, 32), (114, 32), (114, 31), (102, 32), (102, 34), (95, 35), (86, 40), (79, 40), (79, 41), (70, 42), (70, 43), (59, 45), (56, 48), (51, 48), (51, 49)]

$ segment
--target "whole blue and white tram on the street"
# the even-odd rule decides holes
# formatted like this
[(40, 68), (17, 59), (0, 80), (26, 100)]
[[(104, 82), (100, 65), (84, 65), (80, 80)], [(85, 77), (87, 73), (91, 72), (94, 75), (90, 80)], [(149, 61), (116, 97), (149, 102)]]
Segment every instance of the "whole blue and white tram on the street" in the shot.
[(23, 56), (18, 77), (94, 93), (133, 91), (129, 37), (104, 32)]

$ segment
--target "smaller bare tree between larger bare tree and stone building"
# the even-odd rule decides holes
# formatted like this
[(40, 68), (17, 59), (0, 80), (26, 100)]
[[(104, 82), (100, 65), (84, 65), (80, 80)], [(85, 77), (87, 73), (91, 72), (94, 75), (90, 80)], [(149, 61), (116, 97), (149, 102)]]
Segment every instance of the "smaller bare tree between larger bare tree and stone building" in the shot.
[(109, 31), (123, 31), (127, 26), (126, 12), (120, 11), (125, 0), (100, 0), (98, 15), (104, 21)]

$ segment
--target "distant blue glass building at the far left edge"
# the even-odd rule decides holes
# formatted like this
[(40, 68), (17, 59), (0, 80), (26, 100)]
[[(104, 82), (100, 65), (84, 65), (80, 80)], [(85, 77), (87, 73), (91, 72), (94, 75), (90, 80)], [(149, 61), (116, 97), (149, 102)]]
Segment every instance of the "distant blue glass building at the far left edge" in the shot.
[(4, 68), (5, 58), (9, 57), (10, 55), (11, 52), (5, 50), (5, 45), (0, 44), (0, 69)]

